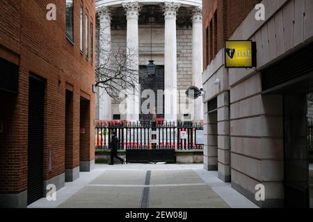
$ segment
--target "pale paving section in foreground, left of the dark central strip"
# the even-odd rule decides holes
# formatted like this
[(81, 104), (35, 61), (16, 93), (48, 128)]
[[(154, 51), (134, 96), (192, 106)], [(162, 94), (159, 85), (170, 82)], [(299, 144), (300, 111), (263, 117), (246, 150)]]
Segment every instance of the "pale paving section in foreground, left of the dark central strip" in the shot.
[(139, 208), (141, 187), (84, 187), (58, 208)]

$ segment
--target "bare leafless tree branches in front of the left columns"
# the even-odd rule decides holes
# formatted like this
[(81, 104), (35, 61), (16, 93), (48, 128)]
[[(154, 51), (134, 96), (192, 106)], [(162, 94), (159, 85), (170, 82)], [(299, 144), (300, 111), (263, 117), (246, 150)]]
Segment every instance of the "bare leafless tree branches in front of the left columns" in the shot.
[(145, 71), (138, 69), (138, 50), (128, 49), (125, 44), (112, 44), (110, 36), (99, 27), (97, 32), (101, 35), (97, 35), (96, 87), (118, 102), (123, 90), (138, 90), (139, 76), (145, 75)]

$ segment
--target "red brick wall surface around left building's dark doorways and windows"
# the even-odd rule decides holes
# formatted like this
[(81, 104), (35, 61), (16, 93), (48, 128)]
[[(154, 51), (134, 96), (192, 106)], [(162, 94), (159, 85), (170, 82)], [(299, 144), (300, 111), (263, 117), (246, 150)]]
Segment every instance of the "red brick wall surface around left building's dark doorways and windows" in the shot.
[[(95, 0), (81, 2), (84, 10), (88, 10), (89, 22), (93, 21), (95, 24)], [(48, 3), (56, 4), (56, 21), (49, 22), (46, 19)], [(94, 137), (95, 96), (92, 85), (95, 83), (95, 66), (91, 65), (84, 55), (81, 56), (79, 50), (79, 4), (80, 1), (74, 1), (73, 45), (65, 37), (65, 0), (1, 0), (0, 57), (19, 65), (19, 92), (16, 103), (11, 104), (14, 107), (11, 110), (14, 112), (10, 122), (6, 124), (9, 126), (6, 128), (8, 131), (6, 134), (0, 134), (0, 193), (19, 193), (27, 189), (29, 72), (47, 79), (45, 180), (65, 171), (65, 89), (68, 85), (72, 85), (74, 112), (73, 146), (70, 152), (72, 157), (67, 158), (67, 167), (79, 166), (79, 107), (82, 92), (90, 99), (88, 134)], [(90, 28), (90, 24), (88, 26)], [(93, 55), (95, 56), (95, 53)], [(3, 98), (0, 100), (1, 103), (3, 100)], [(8, 139), (1, 141), (6, 135), (9, 135)], [(2, 142), (5, 142), (5, 145)], [(48, 146), (52, 148), (52, 171), (48, 171), (47, 165)], [(93, 160), (93, 143), (88, 144), (88, 150), (89, 160)]]

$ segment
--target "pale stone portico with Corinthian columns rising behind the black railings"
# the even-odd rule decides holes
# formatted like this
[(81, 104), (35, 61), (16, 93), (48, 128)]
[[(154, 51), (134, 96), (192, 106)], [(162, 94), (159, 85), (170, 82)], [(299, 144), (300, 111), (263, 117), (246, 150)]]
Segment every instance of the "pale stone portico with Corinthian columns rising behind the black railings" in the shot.
[[(139, 67), (145, 69), (148, 60), (152, 58), (154, 64), (161, 71), (156, 76), (158, 78), (156, 81), (163, 83), (163, 85), (159, 86), (159, 89), (162, 91), (164, 89), (177, 91), (177, 96), (174, 96), (175, 99), (168, 104), (166, 104), (166, 101), (170, 99), (167, 98), (167, 94), (165, 95), (163, 114), (158, 113), (157, 117), (163, 117), (171, 121), (202, 120), (202, 100), (188, 100), (185, 93), (186, 89), (193, 85), (202, 88), (200, 81), (202, 73), (201, 1), (131, 1), (129, 3), (129, 1), (99, 0), (96, 4), (100, 21), (102, 17), (106, 16), (106, 14), (101, 12), (109, 13), (110, 15), (111, 47), (114, 48), (119, 45), (125, 47), (126, 51), (129, 48), (127, 46), (129, 42), (136, 42)], [(136, 8), (135, 13), (138, 13), (138, 17), (136, 17), (137, 29), (135, 29), (136, 31), (133, 30), (133, 32), (138, 32), (136, 41), (132, 40), (132, 37), (127, 37), (127, 27), (132, 21), (127, 19), (127, 15), (129, 15), (127, 13), (129, 10), (134, 10), (134, 7)], [(152, 24), (149, 19), (153, 20)], [(104, 23), (104, 21), (99, 22), (99, 28)], [(97, 39), (99, 38), (101, 39), (101, 36), (97, 37)], [(150, 44), (152, 44), (152, 56)], [(101, 55), (98, 54), (98, 56), (101, 58)], [(141, 90), (143, 90), (144, 84), (141, 83)], [(145, 89), (154, 89), (156, 87), (156, 85), (149, 84)], [(135, 116), (121, 114), (120, 102), (115, 103), (107, 94), (100, 92), (102, 89), (98, 90), (96, 103), (97, 119), (143, 120), (141, 110), (134, 111), (137, 112)], [(136, 95), (135, 97), (138, 96), (141, 95)], [(132, 98), (130, 101), (135, 101), (135, 99)], [(143, 101), (141, 100), (141, 102)], [(190, 109), (188, 109), (189, 103), (193, 106)], [(141, 103), (132, 104), (131, 106), (140, 108)], [(184, 110), (184, 108), (186, 109)], [(194, 110), (200, 110), (200, 112), (195, 112)]]

